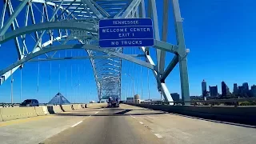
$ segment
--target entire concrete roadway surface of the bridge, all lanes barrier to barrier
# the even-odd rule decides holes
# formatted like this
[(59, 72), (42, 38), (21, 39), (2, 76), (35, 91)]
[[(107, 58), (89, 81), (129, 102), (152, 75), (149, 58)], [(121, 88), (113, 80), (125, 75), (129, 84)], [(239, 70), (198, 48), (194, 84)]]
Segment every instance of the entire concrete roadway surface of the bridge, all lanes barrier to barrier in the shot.
[(137, 106), (74, 110), (0, 122), (1, 143), (255, 143), (253, 126)]

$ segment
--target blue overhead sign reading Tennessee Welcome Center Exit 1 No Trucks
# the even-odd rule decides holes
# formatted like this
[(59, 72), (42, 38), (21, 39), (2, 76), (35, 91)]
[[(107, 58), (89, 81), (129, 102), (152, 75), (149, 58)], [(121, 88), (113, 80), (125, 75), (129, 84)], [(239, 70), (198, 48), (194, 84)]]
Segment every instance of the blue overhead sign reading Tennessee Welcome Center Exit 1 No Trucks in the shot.
[(98, 35), (100, 47), (154, 46), (150, 18), (100, 20)]

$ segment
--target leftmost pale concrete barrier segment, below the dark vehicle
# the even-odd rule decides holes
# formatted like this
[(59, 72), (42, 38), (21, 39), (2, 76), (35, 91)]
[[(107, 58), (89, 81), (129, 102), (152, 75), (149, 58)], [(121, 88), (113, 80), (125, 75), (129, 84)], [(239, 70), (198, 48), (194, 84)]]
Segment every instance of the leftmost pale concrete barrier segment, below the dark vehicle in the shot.
[(0, 112), (3, 121), (38, 116), (34, 107), (3, 107)]

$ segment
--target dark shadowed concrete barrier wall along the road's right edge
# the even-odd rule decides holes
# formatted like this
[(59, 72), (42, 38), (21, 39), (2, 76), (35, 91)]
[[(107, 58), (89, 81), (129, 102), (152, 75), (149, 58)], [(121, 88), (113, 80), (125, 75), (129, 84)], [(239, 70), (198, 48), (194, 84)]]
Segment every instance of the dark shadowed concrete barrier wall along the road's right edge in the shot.
[(153, 110), (256, 126), (256, 106), (166, 106), (128, 103)]

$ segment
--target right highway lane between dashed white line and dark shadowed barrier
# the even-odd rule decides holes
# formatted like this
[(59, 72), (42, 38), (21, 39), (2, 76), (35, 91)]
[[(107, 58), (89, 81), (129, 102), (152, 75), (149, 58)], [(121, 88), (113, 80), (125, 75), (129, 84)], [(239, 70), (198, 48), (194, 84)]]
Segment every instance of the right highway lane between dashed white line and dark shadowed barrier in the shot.
[(169, 114), (138, 106), (122, 105), (138, 122), (162, 135), (166, 144), (255, 144), (256, 127)]

